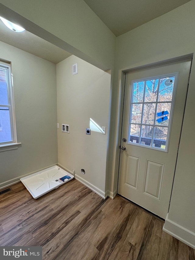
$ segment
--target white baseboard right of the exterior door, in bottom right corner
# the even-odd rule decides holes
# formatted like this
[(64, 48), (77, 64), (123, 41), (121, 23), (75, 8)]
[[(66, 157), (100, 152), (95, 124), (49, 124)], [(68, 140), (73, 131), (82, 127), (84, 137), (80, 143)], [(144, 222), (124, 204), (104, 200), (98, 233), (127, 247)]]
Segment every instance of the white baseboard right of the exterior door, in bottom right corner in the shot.
[(195, 233), (168, 219), (168, 214), (162, 230), (195, 249)]

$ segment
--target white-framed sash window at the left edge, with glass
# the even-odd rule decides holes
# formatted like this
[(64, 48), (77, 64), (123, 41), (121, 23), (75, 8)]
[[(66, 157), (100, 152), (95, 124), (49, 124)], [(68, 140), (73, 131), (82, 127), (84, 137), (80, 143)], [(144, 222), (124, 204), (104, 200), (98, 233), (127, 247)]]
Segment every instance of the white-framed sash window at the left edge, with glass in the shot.
[(0, 151), (17, 144), (11, 67), (0, 62)]

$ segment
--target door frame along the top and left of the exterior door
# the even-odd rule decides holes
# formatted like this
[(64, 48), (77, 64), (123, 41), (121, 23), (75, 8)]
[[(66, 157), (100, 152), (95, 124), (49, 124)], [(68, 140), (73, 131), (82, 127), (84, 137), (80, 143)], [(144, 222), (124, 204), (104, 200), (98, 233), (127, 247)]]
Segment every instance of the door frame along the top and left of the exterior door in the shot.
[[(151, 67), (155, 67), (158, 65), (163, 65), (163, 64), (167, 64), (167, 63), (171, 63), (171, 62), (176, 62), (176, 61), (180, 61), (180, 60), (184, 60), (184, 59), (189, 59), (189, 58), (193, 58), (193, 53), (187, 54), (187, 55), (183, 55), (183, 56), (179, 56), (179, 57), (175, 57), (175, 58), (171, 58), (171, 59), (166, 59), (163, 61), (159, 61), (159, 62), (154, 62), (154, 63), (150, 63), (150, 64), (146, 64), (146, 65), (142, 65), (142, 66), (137, 66), (137, 67), (133, 67), (133, 68), (126, 68), (126, 69), (121, 69), (119, 70), (119, 98), (118, 98), (118, 119), (117, 119), (117, 138), (116, 138), (116, 154), (115, 154), (115, 168), (114, 168), (114, 183), (113, 183), (113, 198), (115, 197), (115, 195), (117, 194), (118, 191), (118, 179), (119, 179), (119, 161), (120, 161), (120, 143), (121, 143), (121, 135), (122, 135), (122, 117), (123, 117), (123, 106), (124, 106), (124, 94), (125, 94), (125, 77), (126, 77), (126, 73), (127, 72), (133, 72), (135, 70), (140, 70), (140, 69), (146, 69), (146, 68), (151, 68)], [(187, 92), (188, 94), (188, 92)], [(187, 97), (187, 95), (186, 95)], [(184, 109), (185, 112), (185, 109)], [(179, 151), (179, 149), (178, 149)], [(177, 162), (176, 162), (177, 164)], [(175, 173), (174, 173), (175, 176)], [(173, 183), (174, 183), (174, 179), (173, 179)]]

